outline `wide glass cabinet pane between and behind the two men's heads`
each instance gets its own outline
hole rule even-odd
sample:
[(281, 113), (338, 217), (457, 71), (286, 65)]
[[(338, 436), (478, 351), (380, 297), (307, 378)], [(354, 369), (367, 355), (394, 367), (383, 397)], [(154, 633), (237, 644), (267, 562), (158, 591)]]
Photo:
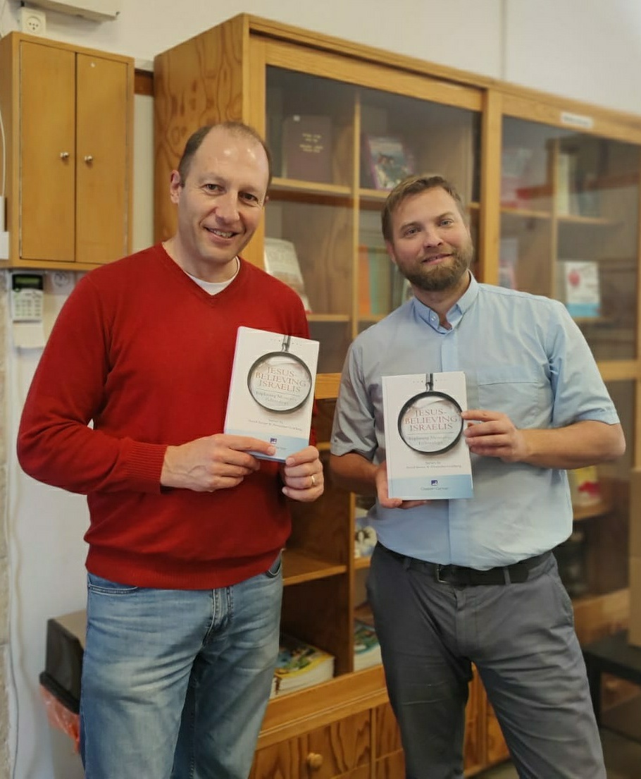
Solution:
[(450, 179), (477, 236), (480, 111), (274, 65), (265, 95), (265, 266), (303, 298), (319, 372), (340, 372), (359, 331), (408, 295), (380, 229), (395, 184), (412, 173)]

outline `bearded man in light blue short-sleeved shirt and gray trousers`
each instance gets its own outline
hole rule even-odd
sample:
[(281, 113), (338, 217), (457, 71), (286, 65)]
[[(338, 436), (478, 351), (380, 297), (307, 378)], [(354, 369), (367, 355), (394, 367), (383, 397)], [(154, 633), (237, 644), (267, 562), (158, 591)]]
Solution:
[[(368, 593), (408, 777), (463, 777), (474, 662), (521, 777), (605, 779), (550, 550), (572, 530), (566, 469), (625, 450), (615, 407), (563, 305), (471, 276), (461, 199), (443, 178), (401, 182), (383, 234), (415, 297), (352, 344), (331, 471), (377, 496)], [(474, 497), (391, 499), (381, 379), (447, 371), (466, 377)]]

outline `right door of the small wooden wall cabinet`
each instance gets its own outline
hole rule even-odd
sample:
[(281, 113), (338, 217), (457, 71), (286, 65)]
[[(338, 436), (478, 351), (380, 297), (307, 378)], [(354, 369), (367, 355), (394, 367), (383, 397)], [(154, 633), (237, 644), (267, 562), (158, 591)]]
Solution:
[(128, 68), (77, 55), (75, 261), (109, 263), (128, 250)]

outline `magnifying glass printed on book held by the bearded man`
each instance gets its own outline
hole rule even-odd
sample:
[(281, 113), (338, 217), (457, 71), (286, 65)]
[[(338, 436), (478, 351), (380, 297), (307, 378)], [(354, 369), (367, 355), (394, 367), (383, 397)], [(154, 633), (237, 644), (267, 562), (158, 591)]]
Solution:
[(461, 406), (451, 395), (433, 389), (434, 377), (426, 374), (426, 389), (411, 397), (398, 414), (398, 434), (410, 449), (422, 454), (443, 454), (463, 432)]

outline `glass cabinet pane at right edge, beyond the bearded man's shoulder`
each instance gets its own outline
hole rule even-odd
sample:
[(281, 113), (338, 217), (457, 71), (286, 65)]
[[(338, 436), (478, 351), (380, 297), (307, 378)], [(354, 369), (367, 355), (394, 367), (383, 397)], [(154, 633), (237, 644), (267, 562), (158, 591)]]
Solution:
[(636, 357), (639, 147), (503, 119), (499, 284), (562, 301), (597, 360)]

